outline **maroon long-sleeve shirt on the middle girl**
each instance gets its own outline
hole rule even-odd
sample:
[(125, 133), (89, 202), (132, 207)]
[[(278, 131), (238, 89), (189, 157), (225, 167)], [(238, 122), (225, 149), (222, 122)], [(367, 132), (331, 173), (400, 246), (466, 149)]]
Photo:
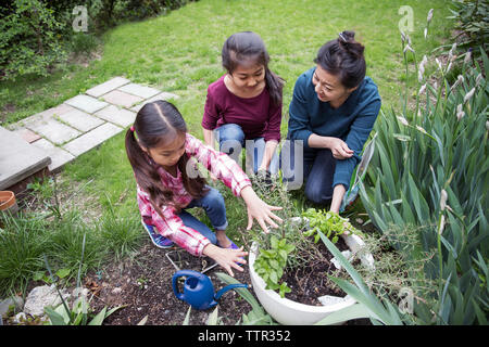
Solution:
[(214, 130), (237, 124), (247, 140), (264, 138), (280, 142), (281, 103), (274, 105), (266, 88), (253, 98), (239, 98), (224, 85), (224, 76), (208, 88), (202, 127)]

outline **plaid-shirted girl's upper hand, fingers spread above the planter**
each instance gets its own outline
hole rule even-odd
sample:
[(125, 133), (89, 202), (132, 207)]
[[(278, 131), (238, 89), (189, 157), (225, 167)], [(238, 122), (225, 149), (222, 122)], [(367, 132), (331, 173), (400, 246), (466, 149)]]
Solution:
[(247, 204), (247, 211), (248, 211), (247, 230), (250, 230), (251, 227), (253, 226), (253, 219), (256, 219), (258, 223), (265, 233), (268, 233), (268, 227), (266, 226), (266, 223), (268, 223), (273, 228), (278, 228), (277, 223), (273, 221), (273, 219), (281, 223), (281, 218), (276, 216), (273, 211), (280, 210), (281, 207), (269, 206), (268, 204), (266, 204), (256, 195), (251, 185), (244, 187), (242, 189), (241, 196), (244, 203)]

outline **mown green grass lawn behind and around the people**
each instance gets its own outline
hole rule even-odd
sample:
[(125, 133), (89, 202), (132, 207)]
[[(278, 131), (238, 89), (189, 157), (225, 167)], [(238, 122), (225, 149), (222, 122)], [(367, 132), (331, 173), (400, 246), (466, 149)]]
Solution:
[[(375, 0), (201, 0), (139, 23), (127, 23), (103, 37), (103, 53), (89, 66), (70, 65), (48, 78), (24, 78), (0, 83), (0, 120), (9, 124), (55, 106), (114, 76), (124, 76), (180, 97), (176, 106), (192, 134), (202, 139), (201, 119), (209, 83), (223, 74), (221, 49), (236, 31), (253, 30), (264, 39), (271, 68), (285, 80), (283, 137), (287, 132), (288, 105), (299, 75), (314, 65), (319, 47), (338, 33), (356, 31), (365, 44), (367, 75), (379, 87), (383, 107), (399, 107), (403, 79), (403, 55), (398, 10), (411, 5), (414, 33), (410, 33), (417, 56), (430, 52), (450, 36), (447, 1)], [(428, 39), (423, 37), (426, 15), (435, 9)], [(138, 214), (135, 180), (124, 149), (124, 134), (90, 151), (62, 174), (62, 189), (76, 181), (85, 196), (95, 196), (102, 208), (122, 217)], [(85, 184), (86, 183), (86, 184)], [(78, 195), (83, 196), (83, 194)], [(229, 234), (246, 228), (242, 203), (225, 192)], [(300, 197), (300, 195), (299, 195)], [(78, 198), (78, 197), (77, 197)], [(84, 204), (83, 198), (79, 204)], [(298, 204), (302, 204), (298, 200)], [(236, 235), (236, 234), (235, 234)], [(238, 235), (236, 235), (238, 236)], [(237, 237), (239, 240), (239, 237)]]

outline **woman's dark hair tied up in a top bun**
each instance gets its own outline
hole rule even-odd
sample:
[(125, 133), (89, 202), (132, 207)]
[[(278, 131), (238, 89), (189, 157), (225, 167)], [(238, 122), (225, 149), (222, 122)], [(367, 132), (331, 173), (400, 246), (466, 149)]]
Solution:
[(337, 39), (323, 44), (314, 60), (329, 74), (339, 76), (346, 88), (354, 88), (365, 78), (365, 47), (354, 37), (354, 31), (340, 33)]

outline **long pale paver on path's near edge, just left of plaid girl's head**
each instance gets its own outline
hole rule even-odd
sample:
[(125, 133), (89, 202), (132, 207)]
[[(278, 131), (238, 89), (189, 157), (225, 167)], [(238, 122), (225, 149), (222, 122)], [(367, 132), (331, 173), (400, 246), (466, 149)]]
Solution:
[(62, 147), (68, 151), (71, 154), (78, 156), (95, 146), (101, 144), (105, 140), (112, 138), (116, 133), (123, 131), (124, 129), (113, 124), (105, 123), (93, 130), (80, 136), (79, 138), (64, 144)]

